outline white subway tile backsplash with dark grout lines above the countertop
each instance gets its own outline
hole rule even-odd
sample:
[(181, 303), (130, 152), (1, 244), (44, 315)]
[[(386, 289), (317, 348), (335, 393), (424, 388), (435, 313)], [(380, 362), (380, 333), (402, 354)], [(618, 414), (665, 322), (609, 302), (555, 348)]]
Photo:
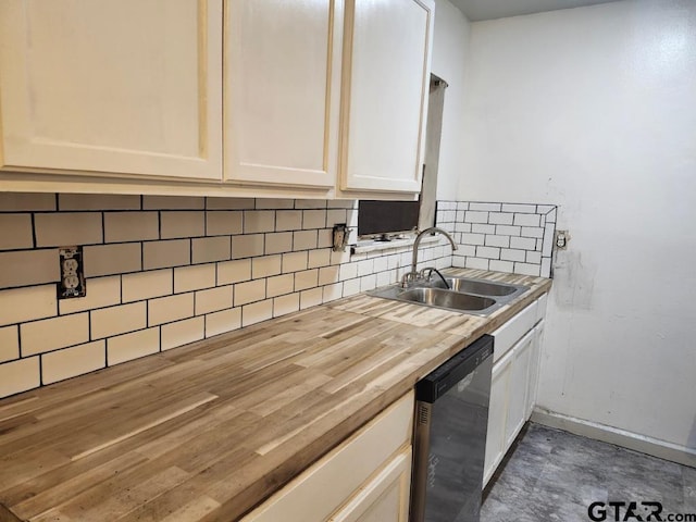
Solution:
[[(46, 382), (390, 284), (410, 270), (410, 247), (356, 256), (332, 250), (334, 224), (346, 223), (352, 227), (349, 238), (356, 238), (355, 200), (79, 196), (71, 202), (71, 197), (61, 195), (63, 210), (54, 212), (55, 195), (16, 196), (10, 201), (0, 195), (0, 225), (12, 229), (0, 240), (0, 250), (37, 256), (40, 249), (34, 245), (34, 235), (39, 247), (46, 243), (52, 234), (50, 220), (75, 228), (71, 243), (85, 245), (87, 297), (61, 301), (61, 315), (55, 285), (37, 285), (48, 282), (45, 277), (49, 275), (57, 277), (54, 248), (46, 251), (50, 262), (20, 282), (33, 286), (14, 293), (7, 284), (3, 288), (0, 279), (0, 326), (4, 326), (0, 327), (0, 371), (9, 361), (38, 362), (41, 358)], [(422, 245), (420, 266), (485, 264), (495, 270), (512, 264), (475, 258), (476, 246), (488, 256), (509, 246), (509, 234), (495, 234), (498, 225), (511, 226), (500, 203), (470, 207), (469, 202), (445, 201), (438, 207), (440, 226), (456, 233), (458, 239), (470, 235), (474, 244), (462, 245), (457, 253), (464, 256), (453, 258), (444, 240)], [(65, 212), (69, 208), (79, 212)], [(32, 214), (23, 212), (38, 212), (34, 228)], [(475, 223), (467, 222), (467, 215)], [(489, 237), (484, 239), (486, 234)], [(7, 258), (0, 257), (0, 265), (8, 265)], [(1, 307), (10, 302), (11, 307)], [(32, 333), (45, 323), (59, 326), (58, 322), (78, 319), (89, 321), (91, 337), (85, 337), (84, 324), (57, 328), (59, 334), (47, 341), (50, 346), (41, 345), (40, 336)], [(17, 323), (26, 333), (27, 350), (39, 356), (21, 352)], [(65, 340), (66, 331), (76, 337)], [(29, 357), (21, 359), (24, 356)], [(38, 365), (32, 370), (32, 378), (37, 380), (32, 387), (39, 385), (39, 371)], [(8, 394), (18, 387), (11, 386)]]

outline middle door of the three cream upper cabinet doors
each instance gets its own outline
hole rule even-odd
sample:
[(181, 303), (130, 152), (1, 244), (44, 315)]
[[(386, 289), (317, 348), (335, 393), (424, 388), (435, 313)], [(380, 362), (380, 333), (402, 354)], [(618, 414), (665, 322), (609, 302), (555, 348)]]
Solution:
[(225, 179), (336, 184), (343, 2), (225, 3)]

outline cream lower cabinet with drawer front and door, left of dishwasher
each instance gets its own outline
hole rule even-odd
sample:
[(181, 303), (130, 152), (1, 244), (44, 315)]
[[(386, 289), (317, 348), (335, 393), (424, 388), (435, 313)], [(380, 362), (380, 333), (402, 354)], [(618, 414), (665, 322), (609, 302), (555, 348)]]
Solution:
[(413, 393), (409, 393), (243, 522), (406, 522), (413, 408)]

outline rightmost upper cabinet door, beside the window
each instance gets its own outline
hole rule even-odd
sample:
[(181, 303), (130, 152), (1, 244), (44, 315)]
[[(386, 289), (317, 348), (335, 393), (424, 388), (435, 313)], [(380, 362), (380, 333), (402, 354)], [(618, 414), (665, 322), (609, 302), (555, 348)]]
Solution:
[(347, 0), (340, 188), (419, 192), (432, 0)]

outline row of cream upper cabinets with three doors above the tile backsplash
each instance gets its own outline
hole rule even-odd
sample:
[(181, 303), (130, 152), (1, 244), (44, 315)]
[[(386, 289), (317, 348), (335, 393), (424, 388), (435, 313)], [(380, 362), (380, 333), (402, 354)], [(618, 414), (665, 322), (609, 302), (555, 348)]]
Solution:
[(0, 0), (2, 188), (414, 198), (433, 10)]

